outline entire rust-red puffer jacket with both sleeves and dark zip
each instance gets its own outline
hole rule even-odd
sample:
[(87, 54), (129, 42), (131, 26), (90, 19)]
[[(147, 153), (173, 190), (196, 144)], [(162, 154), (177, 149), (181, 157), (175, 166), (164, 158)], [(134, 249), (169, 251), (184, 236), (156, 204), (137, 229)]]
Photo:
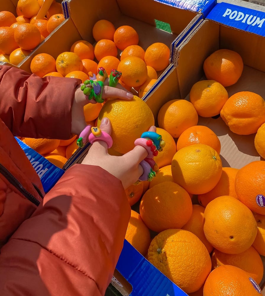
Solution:
[(79, 83), (0, 65), (0, 295), (104, 295), (114, 272), (130, 218), (121, 181), (76, 164), (42, 200), (13, 136), (69, 139)]

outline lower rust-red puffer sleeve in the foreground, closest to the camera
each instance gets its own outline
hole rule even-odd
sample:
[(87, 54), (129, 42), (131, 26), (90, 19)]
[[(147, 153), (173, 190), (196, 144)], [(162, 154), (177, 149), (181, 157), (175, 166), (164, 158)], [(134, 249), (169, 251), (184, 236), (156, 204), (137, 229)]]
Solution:
[(72, 166), (1, 249), (0, 295), (104, 295), (129, 218), (120, 180)]

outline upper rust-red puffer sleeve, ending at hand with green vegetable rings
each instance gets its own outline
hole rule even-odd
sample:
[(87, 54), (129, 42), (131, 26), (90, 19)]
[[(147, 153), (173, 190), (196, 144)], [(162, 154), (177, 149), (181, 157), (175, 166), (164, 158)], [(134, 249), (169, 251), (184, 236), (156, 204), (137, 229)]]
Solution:
[(71, 106), (80, 79), (40, 78), (0, 65), (0, 118), (15, 136), (71, 137)]

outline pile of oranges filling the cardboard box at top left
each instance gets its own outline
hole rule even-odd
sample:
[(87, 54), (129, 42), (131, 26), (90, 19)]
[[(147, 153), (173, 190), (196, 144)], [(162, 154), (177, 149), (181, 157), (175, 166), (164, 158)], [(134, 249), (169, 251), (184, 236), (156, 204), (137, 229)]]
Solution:
[(19, 0), (17, 16), (0, 12), (0, 61), (17, 66), (63, 21), (62, 5), (55, 0), (46, 17), (36, 16), (43, 0)]

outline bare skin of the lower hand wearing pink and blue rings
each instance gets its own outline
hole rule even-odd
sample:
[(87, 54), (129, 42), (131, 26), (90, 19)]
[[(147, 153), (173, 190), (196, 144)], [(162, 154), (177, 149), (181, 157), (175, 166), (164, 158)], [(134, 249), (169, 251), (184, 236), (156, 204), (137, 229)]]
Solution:
[[(101, 131), (111, 134), (111, 123), (108, 118), (103, 118), (100, 125)], [(151, 126), (149, 131), (156, 132), (156, 127)], [(140, 145), (122, 156), (113, 156), (108, 154), (107, 144), (104, 141), (95, 141), (88, 154), (85, 156), (82, 164), (97, 165), (111, 173), (122, 181), (126, 189), (134, 184), (143, 174), (143, 168), (140, 162), (146, 158), (148, 152)]]

